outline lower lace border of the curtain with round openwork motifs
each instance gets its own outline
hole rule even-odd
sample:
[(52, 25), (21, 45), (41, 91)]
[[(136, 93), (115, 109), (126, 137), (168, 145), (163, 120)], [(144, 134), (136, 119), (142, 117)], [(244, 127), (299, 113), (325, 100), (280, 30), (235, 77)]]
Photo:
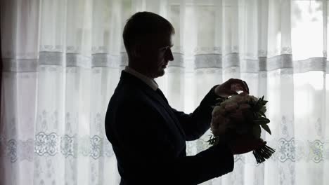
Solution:
[[(34, 139), (22, 141), (20, 139), (6, 139), (0, 137), (1, 156), (8, 158), (11, 163), (21, 160), (32, 161), (34, 156), (56, 156), (63, 155), (65, 158), (77, 156), (91, 157), (112, 157), (113, 151), (110, 142), (99, 135), (77, 137), (76, 135), (58, 135), (56, 132), (46, 134), (39, 132)], [(202, 145), (205, 145), (202, 144)], [(272, 161), (280, 163), (307, 161), (321, 163), (329, 160), (329, 141), (319, 139), (301, 141), (292, 138), (278, 138), (269, 141), (269, 145), (276, 148)], [(207, 146), (205, 146), (207, 147)], [(203, 149), (202, 149), (203, 150)], [(236, 156), (235, 161), (252, 163), (244, 156)]]

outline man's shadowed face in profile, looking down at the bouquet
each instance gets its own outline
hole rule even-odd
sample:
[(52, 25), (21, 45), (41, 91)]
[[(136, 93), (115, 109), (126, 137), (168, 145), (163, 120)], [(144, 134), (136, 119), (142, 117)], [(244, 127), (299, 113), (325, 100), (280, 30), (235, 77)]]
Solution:
[(172, 35), (157, 35), (150, 38), (143, 52), (143, 65), (150, 78), (164, 75), (168, 62), (174, 60), (172, 46)]

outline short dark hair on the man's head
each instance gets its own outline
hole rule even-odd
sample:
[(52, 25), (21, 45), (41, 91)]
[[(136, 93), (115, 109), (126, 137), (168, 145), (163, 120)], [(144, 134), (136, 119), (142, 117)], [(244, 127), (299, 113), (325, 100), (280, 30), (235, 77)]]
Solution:
[(123, 31), (124, 47), (131, 57), (131, 46), (155, 34), (174, 34), (172, 24), (160, 15), (151, 12), (138, 12), (127, 20)]

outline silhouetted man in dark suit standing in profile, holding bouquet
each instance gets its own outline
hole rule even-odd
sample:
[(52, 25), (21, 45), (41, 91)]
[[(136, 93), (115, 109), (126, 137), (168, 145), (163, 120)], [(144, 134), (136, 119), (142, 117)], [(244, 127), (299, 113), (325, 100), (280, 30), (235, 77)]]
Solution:
[[(198, 139), (209, 129), (215, 100), (236, 90), (249, 92), (244, 81), (230, 79), (209, 90), (191, 114), (170, 107), (154, 78), (163, 76), (168, 62), (174, 60), (172, 34), (174, 28), (167, 20), (148, 12), (136, 13), (124, 27), (129, 65), (122, 71), (105, 117), (120, 184), (199, 184), (232, 172), (233, 154), (262, 144), (245, 145), (245, 138), (224, 139), (186, 156), (186, 141)], [(221, 125), (224, 137), (231, 126)]]

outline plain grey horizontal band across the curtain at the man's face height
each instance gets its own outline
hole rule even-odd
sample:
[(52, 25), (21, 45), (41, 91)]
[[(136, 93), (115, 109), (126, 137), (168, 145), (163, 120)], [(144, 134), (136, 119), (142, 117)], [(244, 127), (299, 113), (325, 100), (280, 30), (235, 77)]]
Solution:
[[(39, 59), (4, 58), (3, 71), (35, 72), (40, 65), (57, 65), (65, 67), (110, 67), (119, 68), (128, 64), (126, 53), (109, 55), (106, 53), (93, 54), (91, 57), (78, 53), (40, 52)], [(190, 62), (192, 61), (192, 62)], [(284, 54), (275, 57), (259, 57), (257, 60), (243, 59), (239, 53), (228, 55), (202, 54), (186, 59), (181, 53), (174, 53), (174, 61), (169, 67), (192, 69), (240, 67), (244, 73), (258, 73), (259, 71), (273, 71), (276, 69), (292, 68), (294, 73), (307, 71), (329, 71), (329, 61), (325, 57), (311, 57), (307, 60), (292, 61), (292, 55)]]

